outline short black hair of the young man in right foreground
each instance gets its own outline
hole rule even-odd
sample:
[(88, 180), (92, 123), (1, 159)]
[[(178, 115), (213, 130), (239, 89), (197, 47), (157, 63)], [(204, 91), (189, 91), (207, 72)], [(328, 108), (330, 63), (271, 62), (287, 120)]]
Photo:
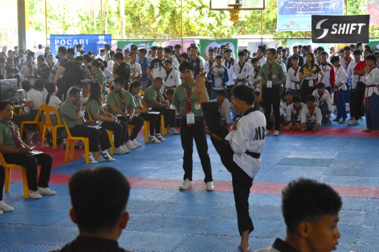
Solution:
[(282, 212), (287, 233), (293, 234), (302, 221), (317, 222), (341, 210), (341, 196), (330, 186), (300, 178), (282, 191)]

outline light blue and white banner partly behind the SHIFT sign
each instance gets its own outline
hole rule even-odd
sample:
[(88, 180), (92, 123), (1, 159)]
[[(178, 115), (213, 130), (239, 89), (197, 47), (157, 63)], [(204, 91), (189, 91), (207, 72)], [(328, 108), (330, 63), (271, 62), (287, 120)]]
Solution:
[(277, 31), (311, 31), (312, 15), (343, 15), (344, 0), (278, 0)]

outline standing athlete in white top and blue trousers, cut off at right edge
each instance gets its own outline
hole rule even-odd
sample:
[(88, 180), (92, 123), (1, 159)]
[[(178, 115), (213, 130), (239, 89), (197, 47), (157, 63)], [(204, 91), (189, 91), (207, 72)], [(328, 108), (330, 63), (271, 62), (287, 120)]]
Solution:
[(365, 116), (366, 126), (364, 132), (379, 133), (379, 69), (375, 66), (376, 55), (366, 57), (365, 67)]

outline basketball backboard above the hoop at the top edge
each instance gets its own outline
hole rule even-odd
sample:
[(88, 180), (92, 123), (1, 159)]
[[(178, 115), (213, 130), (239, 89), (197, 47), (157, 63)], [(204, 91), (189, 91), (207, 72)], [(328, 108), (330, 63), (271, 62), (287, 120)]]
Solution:
[(241, 10), (265, 9), (265, 0), (210, 0), (211, 10), (228, 10), (228, 4), (240, 4)]

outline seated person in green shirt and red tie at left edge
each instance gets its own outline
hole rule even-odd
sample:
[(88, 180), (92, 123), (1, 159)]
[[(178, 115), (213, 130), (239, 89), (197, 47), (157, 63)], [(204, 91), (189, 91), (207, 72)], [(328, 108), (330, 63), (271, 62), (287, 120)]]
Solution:
[[(29, 197), (41, 198), (41, 194), (51, 195), (49, 189), (50, 171), (53, 158), (46, 153), (32, 153), (34, 147), (25, 144), (19, 134), (18, 126), (11, 122), (13, 105), (9, 100), (0, 101), (0, 152), (5, 162), (26, 167)], [(40, 165), (39, 176), (37, 166)]]

